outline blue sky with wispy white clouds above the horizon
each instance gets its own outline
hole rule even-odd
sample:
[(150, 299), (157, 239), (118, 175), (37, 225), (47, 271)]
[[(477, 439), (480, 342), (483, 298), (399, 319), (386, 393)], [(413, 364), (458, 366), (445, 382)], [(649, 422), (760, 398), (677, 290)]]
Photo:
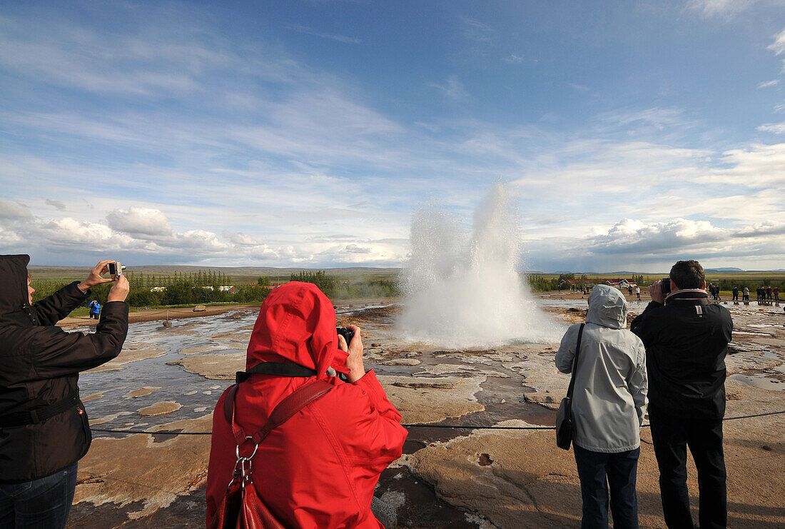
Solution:
[(400, 266), (502, 182), (524, 268), (785, 268), (783, 0), (0, 5), (0, 253)]

